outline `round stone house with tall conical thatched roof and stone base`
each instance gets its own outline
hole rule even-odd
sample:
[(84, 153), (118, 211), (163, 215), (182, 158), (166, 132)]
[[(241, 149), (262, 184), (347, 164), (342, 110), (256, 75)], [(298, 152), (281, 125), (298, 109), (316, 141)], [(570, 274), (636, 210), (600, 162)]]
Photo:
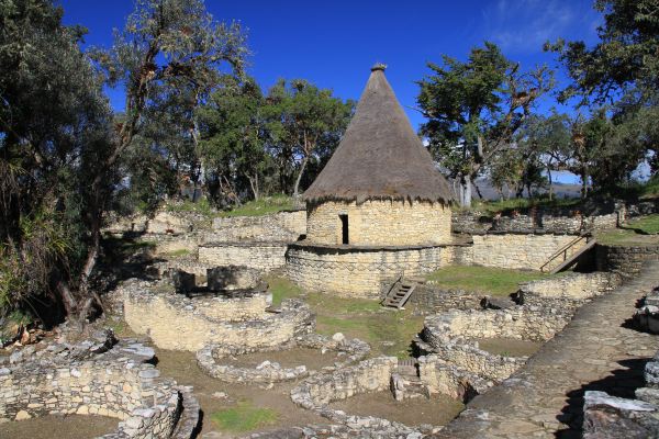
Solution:
[(304, 193), (306, 238), (289, 277), (312, 291), (378, 297), (380, 284), (453, 257), (451, 192), (375, 66), (332, 158)]

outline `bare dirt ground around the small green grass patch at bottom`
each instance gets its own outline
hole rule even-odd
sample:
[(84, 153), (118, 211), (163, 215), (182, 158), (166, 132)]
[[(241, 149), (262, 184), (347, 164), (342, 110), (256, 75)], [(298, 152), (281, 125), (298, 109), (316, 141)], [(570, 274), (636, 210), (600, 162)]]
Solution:
[[(179, 384), (194, 386), (194, 395), (199, 399), (203, 412), (201, 436), (219, 431), (210, 418), (211, 415), (214, 412), (235, 405), (237, 401), (249, 401), (256, 407), (275, 410), (278, 415), (277, 421), (267, 429), (306, 424), (327, 424), (327, 419), (293, 404), (289, 394), (291, 389), (297, 385), (295, 382), (276, 384), (271, 389), (266, 389), (265, 385), (226, 384), (204, 374), (197, 365), (192, 352), (157, 349), (156, 354), (158, 357), (157, 368), (163, 376), (174, 378)], [(217, 392), (225, 393), (227, 397), (213, 396)], [(235, 436), (239, 437), (244, 434), (236, 434)], [(232, 438), (234, 436), (223, 432), (222, 436), (212, 435), (212, 437)]]

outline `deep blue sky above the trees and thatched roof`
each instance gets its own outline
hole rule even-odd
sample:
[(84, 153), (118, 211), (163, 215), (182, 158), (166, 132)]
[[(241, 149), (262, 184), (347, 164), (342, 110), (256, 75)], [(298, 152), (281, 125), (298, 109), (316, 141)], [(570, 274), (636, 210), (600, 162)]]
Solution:
[[(358, 99), (377, 61), (416, 128), (423, 122), (415, 106), (415, 81), (428, 72), (427, 61), (446, 54), (465, 59), (483, 41), (499, 44), (523, 69), (547, 64), (546, 41), (558, 37), (596, 41), (601, 15), (591, 0), (494, 1), (277, 1), (206, 0), (216, 20), (239, 21), (247, 30), (249, 74), (264, 89), (278, 78), (303, 78), (344, 99)], [(112, 30), (123, 27), (132, 0), (62, 0), (65, 22), (89, 29), (86, 43), (110, 46)], [(565, 83), (565, 75), (558, 74)], [(123, 108), (121, 91), (109, 91), (112, 105)], [(547, 97), (541, 110), (556, 105)], [(568, 108), (561, 109), (569, 111)]]

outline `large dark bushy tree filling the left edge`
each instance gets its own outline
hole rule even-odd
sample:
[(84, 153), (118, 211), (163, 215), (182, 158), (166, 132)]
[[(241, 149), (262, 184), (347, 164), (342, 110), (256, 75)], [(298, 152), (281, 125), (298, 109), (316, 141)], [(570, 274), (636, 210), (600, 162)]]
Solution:
[[(76, 316), (93, 293), (79, 284), (111, 113), (101, 78), (48, 0), (0, 1), (0, 311), (48, 322)], [(71, 291), (74, 288), (74, 291)], [(0, 316), (1, 317), (1, 316)]]

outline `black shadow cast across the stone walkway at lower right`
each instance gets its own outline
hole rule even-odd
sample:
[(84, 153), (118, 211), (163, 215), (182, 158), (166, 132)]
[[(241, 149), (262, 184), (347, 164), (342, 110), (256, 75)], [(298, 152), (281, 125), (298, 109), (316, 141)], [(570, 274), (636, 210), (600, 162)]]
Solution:
[(634, 398), (636, 389), (645, 386), (644, 370), (651, 358), (622, 360), (617, 363), (621, 369), (614, 370), (608, 376), (583, 384), (581, 387), (567, 393), (567, 405), (556, 418), (570, 426), (558, 430), (556, 437), (560, 439), (581, 438), (583, 430), (583, 395), (587, 391), (606, 392), (611, 396)]

